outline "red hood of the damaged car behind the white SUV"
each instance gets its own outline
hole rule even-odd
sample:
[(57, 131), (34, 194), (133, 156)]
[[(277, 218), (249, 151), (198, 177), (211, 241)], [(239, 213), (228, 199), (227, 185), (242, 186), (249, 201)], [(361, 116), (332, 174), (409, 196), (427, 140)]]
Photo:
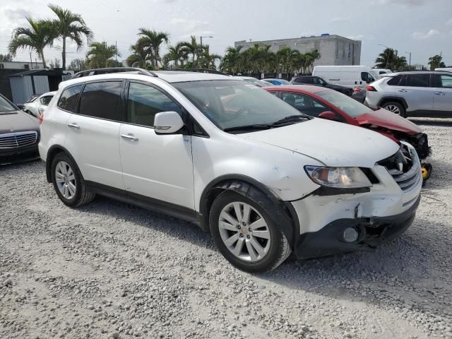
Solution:
[(356, 117), (356, 121), (360, 125), (372, 124), (383, 127), (384, 129), (391, 129), (392, 131), (400, 131), (408, 134), (421, 133), (422, 129), (416, 124), (413, 124), (408, 119), (400, 117), (400, 115), (393, 114), (386, 109), (379, 109)]

